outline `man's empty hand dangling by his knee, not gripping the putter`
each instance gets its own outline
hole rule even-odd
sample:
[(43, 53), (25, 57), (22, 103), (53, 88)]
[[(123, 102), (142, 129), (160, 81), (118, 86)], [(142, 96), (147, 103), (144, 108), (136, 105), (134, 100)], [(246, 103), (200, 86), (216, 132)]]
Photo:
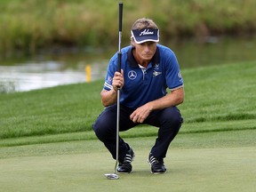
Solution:
[(145, 104), (140, 108), (137, 108), (135, 111), (133, 111), (132, 115), (130, 116), (130, 119), (132, 120), (133, 123), (142, 124), (151, 111), (152, 108), (148, 104)]

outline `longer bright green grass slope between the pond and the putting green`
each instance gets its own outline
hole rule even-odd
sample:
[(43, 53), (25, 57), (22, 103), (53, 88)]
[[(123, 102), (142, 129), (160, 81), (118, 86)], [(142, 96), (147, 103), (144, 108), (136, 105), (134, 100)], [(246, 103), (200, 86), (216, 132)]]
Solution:
[[(186, 96), (180, 105), (184, 117), (180, 133), (255, 130), (255, 72), (255, 62), (183, 69)], [(31, 144), (95, 139), (90, 131), (103, 109), (102, 84), (100, 80), (0, 94), (0, 146), (24, 145), (25, 140)], [(125, 137), (156, 134), (156, 130), (148, 130), (142, 126), (140, 132)]]

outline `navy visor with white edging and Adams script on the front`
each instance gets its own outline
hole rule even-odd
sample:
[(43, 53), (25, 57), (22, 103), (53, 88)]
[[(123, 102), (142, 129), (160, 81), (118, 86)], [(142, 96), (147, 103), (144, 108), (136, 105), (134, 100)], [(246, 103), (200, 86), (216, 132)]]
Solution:
[(131, 33), (136, 44), (148, 41), (159, 42), (159, 30), (157, 28), (134, 29)]

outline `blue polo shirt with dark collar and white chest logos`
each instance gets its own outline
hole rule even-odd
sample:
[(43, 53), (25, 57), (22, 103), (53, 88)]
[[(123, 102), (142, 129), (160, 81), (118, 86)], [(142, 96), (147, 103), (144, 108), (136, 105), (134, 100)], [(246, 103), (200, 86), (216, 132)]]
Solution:
[[(121, 89), (120, 103), (128, 108), (139, 108), (149, 101), (166, 95), (183, 86), (179, 63), (174, 52), (164, 45), (156, 45), (156, 53), (148, 67), (140, 68), (133, 57), (132, 46), (124, 47), (121, 68), (124, 70), (124, 86)], [(117, 52), (110, 59), (103, 89), (112, 89), (112, 79), (117, 70)]]

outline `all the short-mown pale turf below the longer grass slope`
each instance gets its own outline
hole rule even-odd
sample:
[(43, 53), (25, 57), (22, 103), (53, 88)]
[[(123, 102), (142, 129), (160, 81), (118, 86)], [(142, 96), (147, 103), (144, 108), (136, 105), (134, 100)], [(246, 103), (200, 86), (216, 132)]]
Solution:
[(155, 138), (126, 139), (135, 151), (133, 172), (119, 180), (104, 177), (115, 161), (99, 140), (0, 148), (0, 191), (255, 191), (253, 135), (254, 130), (180, 134), (163, 175), (152, 175), (147, 163)]

